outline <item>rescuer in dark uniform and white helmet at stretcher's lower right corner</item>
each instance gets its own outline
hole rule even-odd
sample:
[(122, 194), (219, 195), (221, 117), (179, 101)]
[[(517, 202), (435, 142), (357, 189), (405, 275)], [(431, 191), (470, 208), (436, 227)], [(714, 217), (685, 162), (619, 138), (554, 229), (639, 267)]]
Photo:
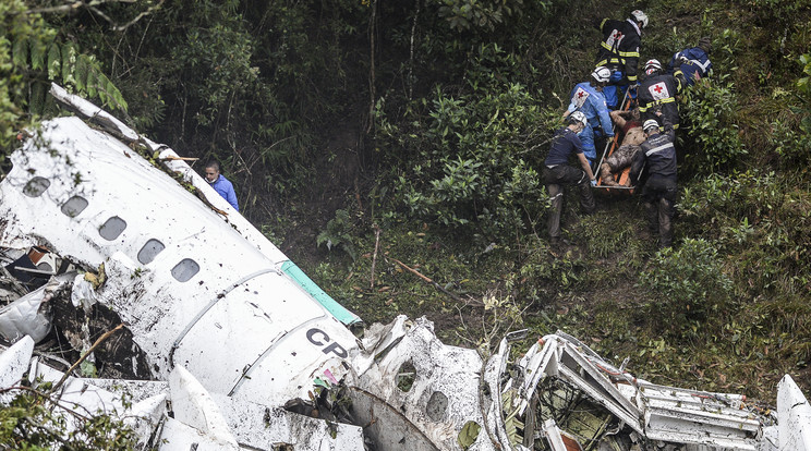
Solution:
[(633, 157), (631, 180), (642, 187), (642, 202), (647, 216), (647, 230), (658, 233), (659, 248), (673, 244), (673, 216), (676, 212), (676, 131), (661, 111), (665, 133), (659, 133), (659, 123), (649, 119), (642, 124), (645, 142)]

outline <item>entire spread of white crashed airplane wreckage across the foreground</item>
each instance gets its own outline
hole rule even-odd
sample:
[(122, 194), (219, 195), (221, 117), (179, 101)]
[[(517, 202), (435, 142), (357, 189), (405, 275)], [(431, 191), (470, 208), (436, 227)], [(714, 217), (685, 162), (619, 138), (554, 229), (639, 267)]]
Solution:
[[(57, 411), (160, 450), (811, 449), (789, 376), (763, 412), (562, 332), (511, 361), (525, 332), (482, 356), (424, 318), (363, 330), (171, 149), (51, 94), (77, 115), (43, 123), (0, 182), (0, 404), (50, 387)], [(98, 377), (36, 352), (55, 329)]]

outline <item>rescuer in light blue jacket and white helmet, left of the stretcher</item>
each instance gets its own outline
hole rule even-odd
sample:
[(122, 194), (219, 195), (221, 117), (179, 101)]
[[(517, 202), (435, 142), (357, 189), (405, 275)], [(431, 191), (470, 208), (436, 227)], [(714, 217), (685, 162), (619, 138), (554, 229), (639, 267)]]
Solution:
[(595, 142), (614, 136), (612, 118), (608, 115), (608, 107), (603, 96), (603, 88), (608, 84), (609, 76), (608, 69), (597, 68), (592, 72), (589, 82), (574, 85), (569, 108), (564, 113), (565, 118), (574, 111), (582, 111), (585, 114), (589, 124), (578, 136), (590, 164), (594, 164), (597, 159)]

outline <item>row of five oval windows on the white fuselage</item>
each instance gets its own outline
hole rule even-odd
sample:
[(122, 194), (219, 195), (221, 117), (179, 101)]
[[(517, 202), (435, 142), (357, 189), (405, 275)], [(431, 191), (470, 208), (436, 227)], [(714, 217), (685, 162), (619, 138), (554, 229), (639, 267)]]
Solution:
[[(39, 197), (50, 186), (50, 181), (43, 176), (35, 176), (25, 184), (23, 187), (23, 194), (28, 197)], [(69, 198), (60, 210), (69, 218), (75, 218), (82, 211), (87, 208), (88, 202), (82, 196), (72, 196)], [(116, 241), (121, 233), (126, 229), (126, 221), (113, 216), (105, 221), (104, 224), (98, 229), (99, 235), (107, 241)], [(158, 240), (149, 239), (141, 251), (138, 251), (137, 259), (143, 265), (152, 263), (155, 257), (160, 254), (166, 246)], [(197, 272), (199, 272), (199, 265), (191, 258), (184, 258), (180, 260), (171, 270), (172, 277), (179, 282), (187, 282)]]

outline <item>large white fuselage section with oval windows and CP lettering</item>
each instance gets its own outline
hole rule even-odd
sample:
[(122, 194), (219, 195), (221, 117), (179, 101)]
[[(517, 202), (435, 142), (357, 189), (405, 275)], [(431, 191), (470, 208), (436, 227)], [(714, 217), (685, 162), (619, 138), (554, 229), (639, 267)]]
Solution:
[[(39, 133), (0, 184), (0, 245), (45, 245), (86, 268), (105, 263), (116, 283), (98, 295), (157, 377), (182, 363), (213, 392), (280, 405), (306, 400), (314, 378), (346, 373), (354, 336), (175, 180), (78, 118), (48, 121)], [(47, 188), (32, 196), (43, 181)], [(74, 196), (87, 206), (71, 217), (62, 207)], [(116, 222), (125, 223), (120, 233)], [(165, 248), (140, 261), (155, 241)]]

